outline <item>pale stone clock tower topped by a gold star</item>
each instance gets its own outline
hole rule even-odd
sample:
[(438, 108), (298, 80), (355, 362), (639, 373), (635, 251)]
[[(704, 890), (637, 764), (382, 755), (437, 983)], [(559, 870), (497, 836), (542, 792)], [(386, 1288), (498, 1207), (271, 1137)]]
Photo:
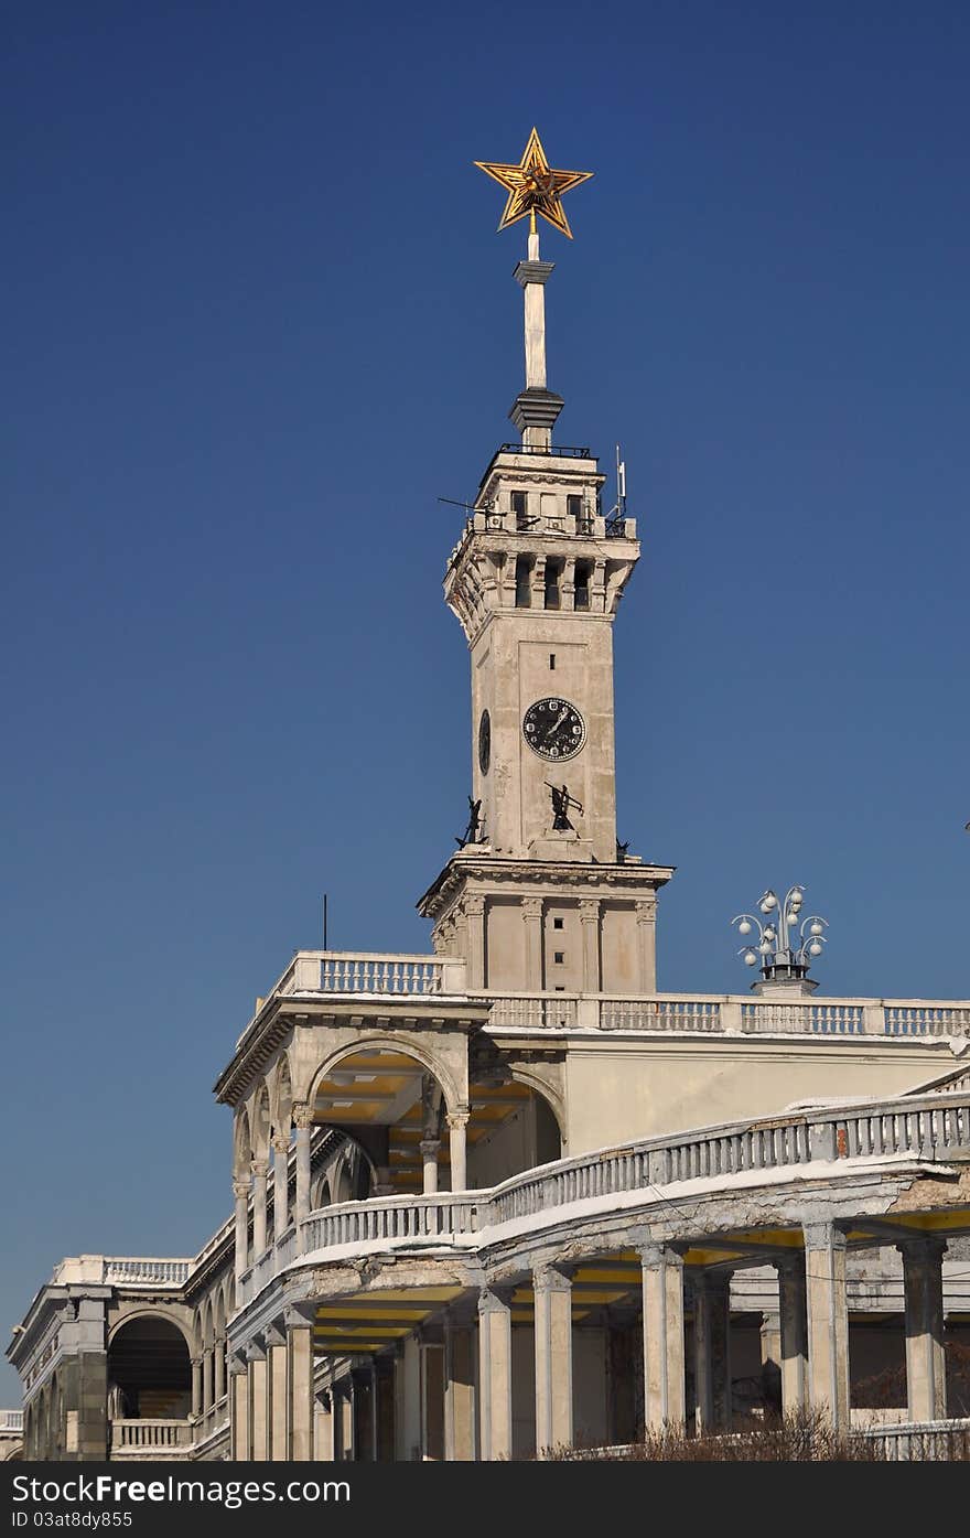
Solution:
[[(452, 551), (444, 595), (472, 664), (467, 841), (418, 903), (435, 949), (469, 984), (510, 992), (656, 989), (656, 891), (672, 875), (616, 843), (613, 620), (639, 560), (623, 500), (604, 517), (596, 458), (553, 446), (563, 398), (546, 383), (546, 283), (536, 212), (570, 235), (535, 129), (518, 166), (480, 163), (509, 191), (500, 229), (529, 215), (521, 443), (489, 461)], [(555, 1003), (555, 1000), (552, 1001)]]

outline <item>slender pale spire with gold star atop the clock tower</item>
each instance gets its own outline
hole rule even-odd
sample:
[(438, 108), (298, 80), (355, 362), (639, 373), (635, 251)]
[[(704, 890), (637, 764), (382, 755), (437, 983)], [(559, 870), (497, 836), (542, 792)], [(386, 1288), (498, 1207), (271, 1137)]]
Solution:
[(529, 215), (529, 255), (518, 263), (513, 274), (523, 288), (526, 311), (526, 388), (515, 397), (509, 417), (521, 432), (524, 448), (549, 451), (552, 429), (563, 411), (563, 397), (546, 384), (546, 283), (553, 263), (540, 260), (535, 215), (541, 214), (572, 240), (561, 198), (570, 188), (589, 181), (592, 171), (553, 171), (535, 128), (517, 166), (492, 160), (477, 160), (475, 165), (509, 194), (500, 229)]

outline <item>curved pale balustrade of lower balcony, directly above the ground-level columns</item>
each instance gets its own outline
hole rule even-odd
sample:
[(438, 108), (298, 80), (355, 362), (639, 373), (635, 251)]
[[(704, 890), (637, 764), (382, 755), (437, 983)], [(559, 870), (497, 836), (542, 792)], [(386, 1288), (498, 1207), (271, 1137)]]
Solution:
[[(658, 1187), (686, 1181), (718, 1186), (726, 1178), (758, 1172), (804, 1170), (821, 1163), (827, 1178), (839, 1161), (948, 1163), (970, 1161), (970, 1095), (919, 1095), (887, 1101), (825, 1106), (764, 1121), (699, 1127), (675, 1137), (644, 1138), (576, 1158), (543, 1164), (487, 1190), (443, 1192), (434, 1197), (375, 1197), (312, 1212), (298, 1235), (303, 1257), (341, 1246), (380, 1244), (467, 1249), (503, 1240), (506, 1224), (543, 1217), (561, 1221), (561, 1209), (641, 1193), (644, 1204)], [(821, 1173), (821, 1172), (819, 1172)], [(849, 1173), (849, 1170), (845, 1170)], [(858, 1163), (852, 1173), (858, 1173)], [(620, 1204), (620, 1203), (618, 1203)], [(629, 1206), (629, 1201), (623, 1201)], [(507, 1235), (512, 1237), (512, 1235)], [(247, 1304), (294, 1261), (291, 1235), (280, 1250), (266, 1250), (240, 1278)]]

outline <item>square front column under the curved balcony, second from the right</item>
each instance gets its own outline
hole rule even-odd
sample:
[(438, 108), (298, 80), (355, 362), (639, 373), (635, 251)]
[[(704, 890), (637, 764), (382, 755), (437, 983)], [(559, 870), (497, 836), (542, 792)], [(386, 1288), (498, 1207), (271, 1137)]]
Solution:
[(807, 1223), (804, 1235), (809, 1404), (836, 1430), (849, 1430), (845, 1235), (835, 1223)]

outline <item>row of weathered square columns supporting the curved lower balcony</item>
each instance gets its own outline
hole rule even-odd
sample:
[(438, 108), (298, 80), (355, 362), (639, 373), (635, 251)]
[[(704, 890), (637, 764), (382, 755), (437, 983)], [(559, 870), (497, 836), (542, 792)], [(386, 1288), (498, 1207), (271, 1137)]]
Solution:
[[(729, 1267), (684, 1264), (687, 1241), (635, 1246), (643, 1293), (643, 1412), (647, 1430), (730, 1427)], [(945, 1241), (905, 1238), (905, 1361), (909, 1418), (945, 1416), (942, 1255)], [(845, 1232), (806, 1223), (778, 1270), (778, 1352), (782, 1412), (821, 1410), (849, 1430), (849, 1307)], [(764, 1257), (769, 1258), (769, 1253)], [(575, 1264), (575, 1263), (573, 1263)], [(684, 1329), (686, 1280), (693, 1330)], [(532, 1266), (535, 1447), (573, 1444), (573, 1286), (555, 1258)], [(490, 1283), (449, 1310), (441, 1326), (407, 1337), (394, 1357), (354, 1366), (314, 1392), (311, 1313), (289, 1310), (263, 1330), (232, 1372), (234, 1456), (395, 1458), (449, 1461), (513, 1455), (512, 1283)], [(312, 1312), (312, 1310), (311, 1310)], [(692, 1343), (692, 1361), (686, 1341)], [(693, 1401), (687, 1403), (687, 1386)], [(429, 1453), (429, 1447), (432, 1449)]]

